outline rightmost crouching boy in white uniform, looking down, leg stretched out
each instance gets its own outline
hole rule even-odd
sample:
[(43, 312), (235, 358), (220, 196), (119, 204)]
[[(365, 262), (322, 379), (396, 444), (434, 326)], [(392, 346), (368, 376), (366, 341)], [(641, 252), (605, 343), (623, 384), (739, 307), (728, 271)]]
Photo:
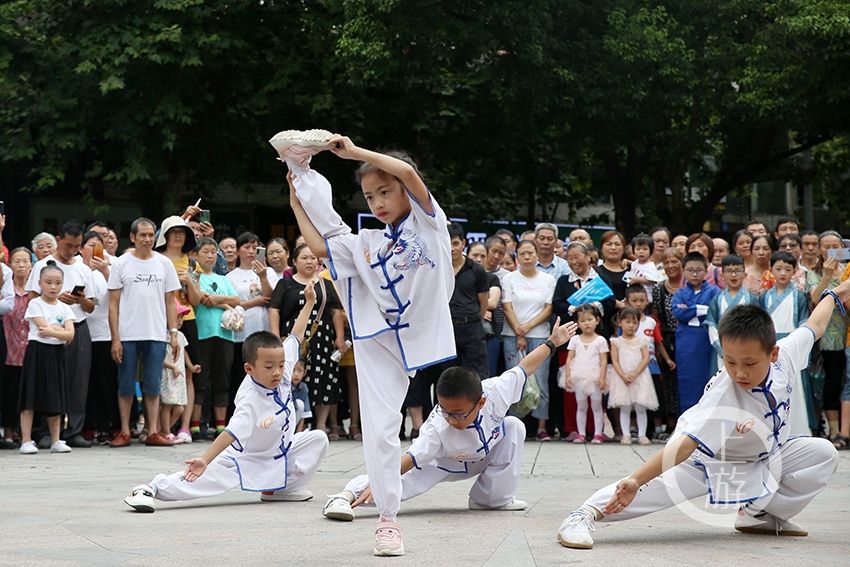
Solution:
[[(735, 529), (808, 535), (791, 521), (835, 473), (838, 453), (826, 439), (790, 437), (787, 425), (796, 375), (809, 365), (836, 304), (850, 299), (850, 280), (827, 290), (806, 325), (776, 342), (761, 307), (732, 308), (720, 322), (726, 368), (679, 418), (666, 447), (631, 476), (591, 496), (558, 530), (565, 547), (593, 547), (590, 531), (708, 495), (711, 504), (741, 504)], [(699, 449), (698, 452), (696, 450)]]

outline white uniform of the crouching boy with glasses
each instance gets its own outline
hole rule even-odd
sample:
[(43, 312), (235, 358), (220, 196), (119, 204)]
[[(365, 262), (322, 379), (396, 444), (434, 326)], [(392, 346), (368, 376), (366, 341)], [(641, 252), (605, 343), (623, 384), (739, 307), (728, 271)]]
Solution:
[[(522, 397), (526, 379), (516, 366), (481, 382), (486, 402), (466, 429), (452, 427), (435, 408), (407, 450), (414, 468), (401, 477), (401, 499), (423, 494), (440, 482), (478, 477), (469, 491), (472, 500), (493, 508), (511, 502), (522, 469), (525, 425), (506, 414)], [(357, 497), (367, 486), (369, 477), (361, 475), (345, 489)]]

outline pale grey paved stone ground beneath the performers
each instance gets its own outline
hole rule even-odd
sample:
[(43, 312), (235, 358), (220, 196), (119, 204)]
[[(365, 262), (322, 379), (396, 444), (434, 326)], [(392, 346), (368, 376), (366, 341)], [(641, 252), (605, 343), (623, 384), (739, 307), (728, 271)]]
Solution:
[[(299, 503), (260, 503), (233, 491), (132, 512), (122, 498), (154, 474), (182, 468), (206, 444), (174, 448), (75, 449), (67, 455), (0, 452), (0, 565), (850, 565), (850, 452), (798, 521), (809, 537), (739, 534), (676, 509), (600, 524), (596, 547), (555, 541), (563, 517), (593, 490), (626, 475), (659, 446), (525, 445), (524, 512), (471, 512), (471, 481), (438, 486), (402, 506), (407, 556), (371, 555), (374, 508), (352, 523), (322, 518), (324, 495), (364, 471), (359, 443), (331, 444)], [(697, 503), (699, 505), (699, 503)]]

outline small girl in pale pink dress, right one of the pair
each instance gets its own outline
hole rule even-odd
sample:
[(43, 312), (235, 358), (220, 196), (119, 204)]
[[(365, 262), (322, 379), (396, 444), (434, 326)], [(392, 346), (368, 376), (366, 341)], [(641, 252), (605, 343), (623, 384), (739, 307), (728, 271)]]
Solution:
[(638, 335), (641, 313), (626, 307), (617, 315), (622, 335), (611, 338), (611, 365), (608, 371), (608, 407), (620, 408), (620, 443), (631, 445), (629, 425), (632, 407), (637, 415), (638, 442), (649, 445), (646, 437), (646, 410), (658, 409), (658, 396), (649, 374), (649, 337)]

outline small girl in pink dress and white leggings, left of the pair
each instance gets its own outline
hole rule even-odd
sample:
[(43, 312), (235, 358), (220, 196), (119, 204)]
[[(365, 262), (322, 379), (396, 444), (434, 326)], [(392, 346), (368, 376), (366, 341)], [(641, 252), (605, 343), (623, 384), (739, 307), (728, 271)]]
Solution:
[(578, 437), (573, 443), (586, 441), (587, 398), (593, 411), (593, 440), (591, 443), (602, 443), (602, 392), (605, 391), (605, 374), (608, 369), (608, 341), (598, 335), (596, 330), (602, 322), (602, 317), (596, 306), (586, 303), (575, 311), (581, 335), (575, 335), (567, 346), (567, 363), (564, 365), (564, 380), (561, 385), (567, 391), (575, 392), (576, 420)]

